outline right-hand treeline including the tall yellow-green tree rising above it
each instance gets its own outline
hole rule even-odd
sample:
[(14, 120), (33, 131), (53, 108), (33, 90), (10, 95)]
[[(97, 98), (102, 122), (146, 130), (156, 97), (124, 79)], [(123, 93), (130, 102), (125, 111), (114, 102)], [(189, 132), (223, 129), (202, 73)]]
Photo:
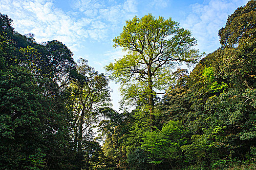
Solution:
[(122, 85), (121, 103), (136, 108), (103, 128), (103, 150), (119, 169), (256, 169), (256, 1), (236, 9), (218, 34), (221, 47), (191, 73), (172, 72), (200, 54), (171, 19), (134, 17), (114, 39), (129, 53), (107, 70)]

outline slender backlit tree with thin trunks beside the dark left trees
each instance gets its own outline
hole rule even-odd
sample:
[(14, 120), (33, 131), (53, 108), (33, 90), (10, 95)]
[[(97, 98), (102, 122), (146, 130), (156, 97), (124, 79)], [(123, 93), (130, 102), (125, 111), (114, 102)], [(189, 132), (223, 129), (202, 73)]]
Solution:
[[(70, 85), (73, 101), (74, 149), (78, 155), (78, 167), (81, 169), (85, 154), (86, 137), (93, 133), (92, 128), (100, 121), (100, 111), (109, 106), (110, 94), (108, 80), (104, 74), (99, 74), (87, 64), (87, 60), (80, 59), (77, 66), (77, 79)], [(93, 135), (91, 136), (93, 137)], [(84, 140), (85, 139), (85, 140)], [(91, 140), (91, 141), (90, 141)], [(93, 138), (89, 139), (90, 142)], [(89, 142), (87, 141), (87, 142)], [(86, 162), (85, 169), (89, 169)]]

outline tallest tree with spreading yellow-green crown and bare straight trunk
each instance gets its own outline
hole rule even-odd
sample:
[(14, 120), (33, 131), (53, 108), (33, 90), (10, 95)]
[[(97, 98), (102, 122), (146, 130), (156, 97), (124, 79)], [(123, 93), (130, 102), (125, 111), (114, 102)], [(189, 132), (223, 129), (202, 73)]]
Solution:
[(121, 83), (122, 95), (130, 96), (130, 101), (134, 98), (130, 93), (134, 88), (145, 94), (152, 127), (155, 91), (165, 87), (171, 69), (178, 63), (197, 61), (198, 50), (192, 49), (196, 40), (171, 18), (157, 19), (149, 14), (126, 21), (123, 32), (113, 41), (114, 47), (122, 47), (128, 54), (110, 63), (106, 70), (111, 79)]

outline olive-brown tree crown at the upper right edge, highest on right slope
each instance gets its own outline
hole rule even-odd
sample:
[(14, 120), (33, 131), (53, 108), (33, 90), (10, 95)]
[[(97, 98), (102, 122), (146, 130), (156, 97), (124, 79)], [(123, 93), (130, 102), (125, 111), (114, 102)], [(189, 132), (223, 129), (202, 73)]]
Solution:
[(232, 81), (238, 79), (244, 88), (249, 89), (256, 85), (255, 6), (255, 0), (250, 0), (237, 8), (219, 31), (220, 43), (224, 47), (221, 69), (230, 70)]

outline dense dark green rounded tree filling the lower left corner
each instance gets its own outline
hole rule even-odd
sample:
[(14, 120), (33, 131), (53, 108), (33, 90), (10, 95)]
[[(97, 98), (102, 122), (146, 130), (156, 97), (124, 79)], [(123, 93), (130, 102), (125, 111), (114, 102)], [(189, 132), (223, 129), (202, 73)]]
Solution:
[(0, 99), (1, 169), (42, 167), (42, 95), (31, 74), (15, 67), (0, 70)]

